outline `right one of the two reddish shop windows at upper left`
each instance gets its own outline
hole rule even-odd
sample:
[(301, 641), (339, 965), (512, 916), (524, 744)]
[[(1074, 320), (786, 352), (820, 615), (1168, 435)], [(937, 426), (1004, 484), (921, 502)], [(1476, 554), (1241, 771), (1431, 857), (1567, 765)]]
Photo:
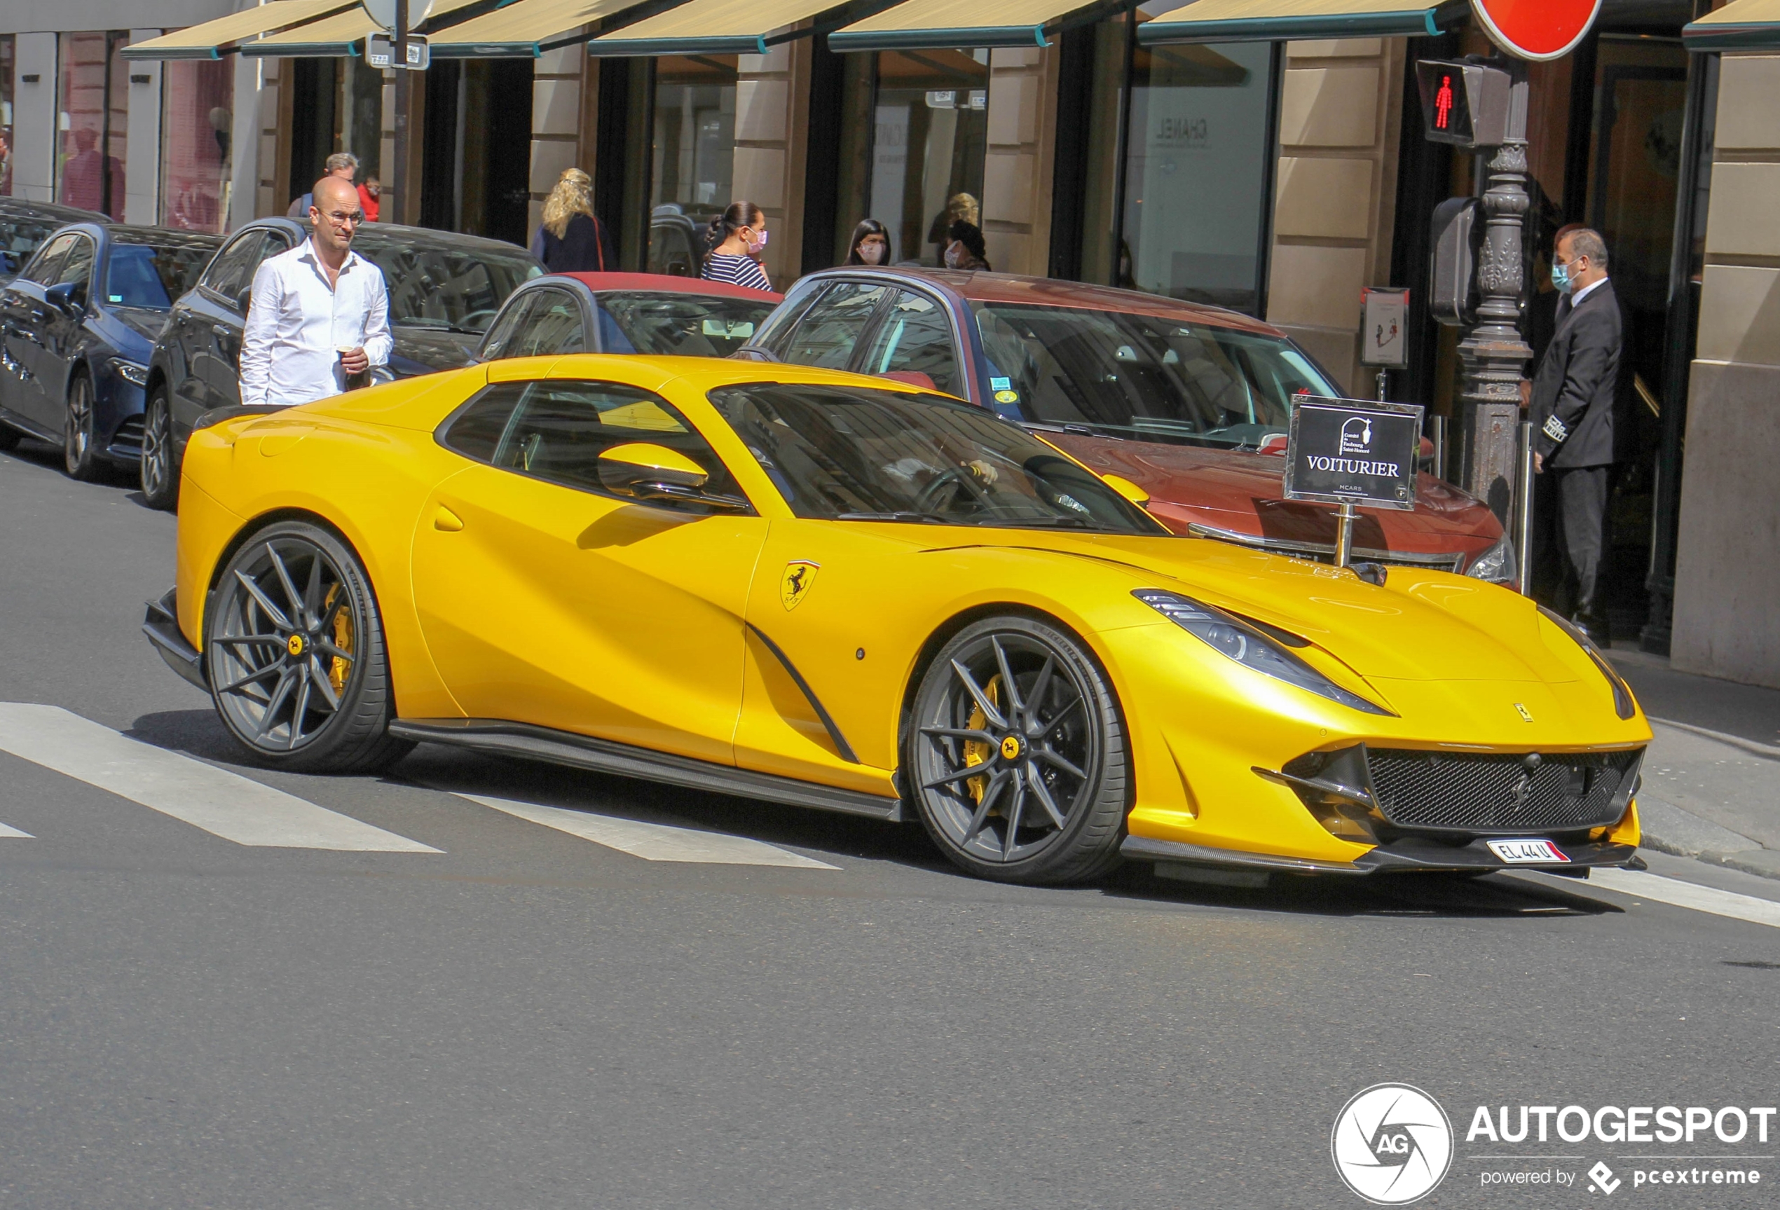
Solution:
[(162, 226), (221, 233), (230, 208), (235, 68), (219, 59), (162, 64)]

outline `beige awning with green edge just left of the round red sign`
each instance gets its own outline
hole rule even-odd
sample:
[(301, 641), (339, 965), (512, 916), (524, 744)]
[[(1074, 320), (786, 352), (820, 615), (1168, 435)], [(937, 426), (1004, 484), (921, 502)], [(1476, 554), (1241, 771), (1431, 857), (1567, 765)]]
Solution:
[(1198, 0), (1137, 27), (1137, 41), (1280, 43), (1296, 37), (1435, 36), (1467, 0)]

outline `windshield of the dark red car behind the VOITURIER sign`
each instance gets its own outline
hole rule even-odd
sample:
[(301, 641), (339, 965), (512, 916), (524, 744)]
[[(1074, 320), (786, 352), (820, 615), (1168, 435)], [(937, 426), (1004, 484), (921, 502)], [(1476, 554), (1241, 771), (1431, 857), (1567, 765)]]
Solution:
[(993, 407), (1031, 424), (1253, 448), (1287, 431), (1294, 395), (1346, 393), (1278, 336), (1129, 311), (970, 306)]

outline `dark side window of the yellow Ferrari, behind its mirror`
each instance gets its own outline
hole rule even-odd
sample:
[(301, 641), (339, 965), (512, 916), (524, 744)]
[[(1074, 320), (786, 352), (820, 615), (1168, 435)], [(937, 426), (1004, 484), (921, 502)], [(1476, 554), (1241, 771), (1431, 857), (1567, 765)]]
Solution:
[[(600, 484), (600, 454), (648, 441), (703, 466), (707, 489), (742, 495), (730, 468), (673, 404), (616, 383), (497, 383), (447, 420), (438, 440), (479, 463), (602, 496), (612, 493)], [(705, 511), (698, 504), (651, 507)]]

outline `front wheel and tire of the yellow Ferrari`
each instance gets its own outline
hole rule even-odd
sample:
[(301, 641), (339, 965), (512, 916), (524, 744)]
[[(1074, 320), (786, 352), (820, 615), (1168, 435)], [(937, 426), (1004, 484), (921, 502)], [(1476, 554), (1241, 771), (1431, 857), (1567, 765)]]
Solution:
[(927, 835), (968, 874), (1079, 883), (1120, 861), (1125, 721), (1093, 655), (1057, 626), (988, 617), (947, 642), (915, 692), (902, 769)]

